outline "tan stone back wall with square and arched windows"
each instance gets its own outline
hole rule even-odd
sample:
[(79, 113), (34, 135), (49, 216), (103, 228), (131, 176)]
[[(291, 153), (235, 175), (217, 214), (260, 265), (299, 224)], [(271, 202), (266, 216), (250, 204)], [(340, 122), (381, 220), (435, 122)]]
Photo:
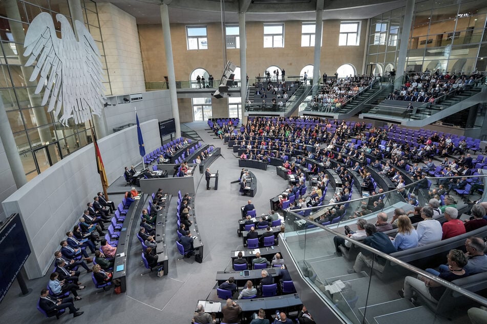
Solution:
[[(286, 21), (284, 24), (284, 48), (264, 49), (263, 22), (247, 22), (247, 74), (250, 78), (271, 66), (285, 68), (286, 75), (297, 75), (307, 64), (313, 64), (313, 47), (301, 47), (301, 21)], [(215, 78), (220, 78), (223, 70), (222, 37), (220, 24), (206, 24), (208, 49), (186, 48), (186, 25), (171, 25), (174, 68), (176, 80), (188, 80), (198, 67), (204, 68)], [(323, 21), (323, 46), (321, 73), (333, 75), (345, 63), (355, 66), (361, 73), (366, 48), (367, 20), (362, 20), (360, 44), (358, 46), (338, 46), (340, 20)], [(162, 29), (160, 25), (140, 25), (140, 48), (144, 62), (145, 80), (163, 81), (167, 75)], [(227, 60), (240, 65), (239, 49), (227, 49)]]

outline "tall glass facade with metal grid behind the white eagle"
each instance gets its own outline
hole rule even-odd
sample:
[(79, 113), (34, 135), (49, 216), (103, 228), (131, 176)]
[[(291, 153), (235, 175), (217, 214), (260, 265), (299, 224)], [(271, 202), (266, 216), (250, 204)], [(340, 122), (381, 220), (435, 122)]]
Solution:
[[(81, 1), (81, 7), (84, 24), (102, 55), (105, 95), (111, 95), (96, 4)], [(70, 119), (66, 126), (61, 125), (58, 115), (48, 112), (48, 105), (42, 105), (44, 91), (34, 93), (38, 79), (29, 80), (33, 66), (24, 66), (28, 57), (23, 56), (23, 44), (29, 24), (41, 12), (51, 14), (59, 38), (60, 23), (56, 20), (56, 14), (66, 16), (73, 24), (67, 0), (0, 2), (0, 96), (28, 180), (91, 143), (90, 124), (75, 125)]]

